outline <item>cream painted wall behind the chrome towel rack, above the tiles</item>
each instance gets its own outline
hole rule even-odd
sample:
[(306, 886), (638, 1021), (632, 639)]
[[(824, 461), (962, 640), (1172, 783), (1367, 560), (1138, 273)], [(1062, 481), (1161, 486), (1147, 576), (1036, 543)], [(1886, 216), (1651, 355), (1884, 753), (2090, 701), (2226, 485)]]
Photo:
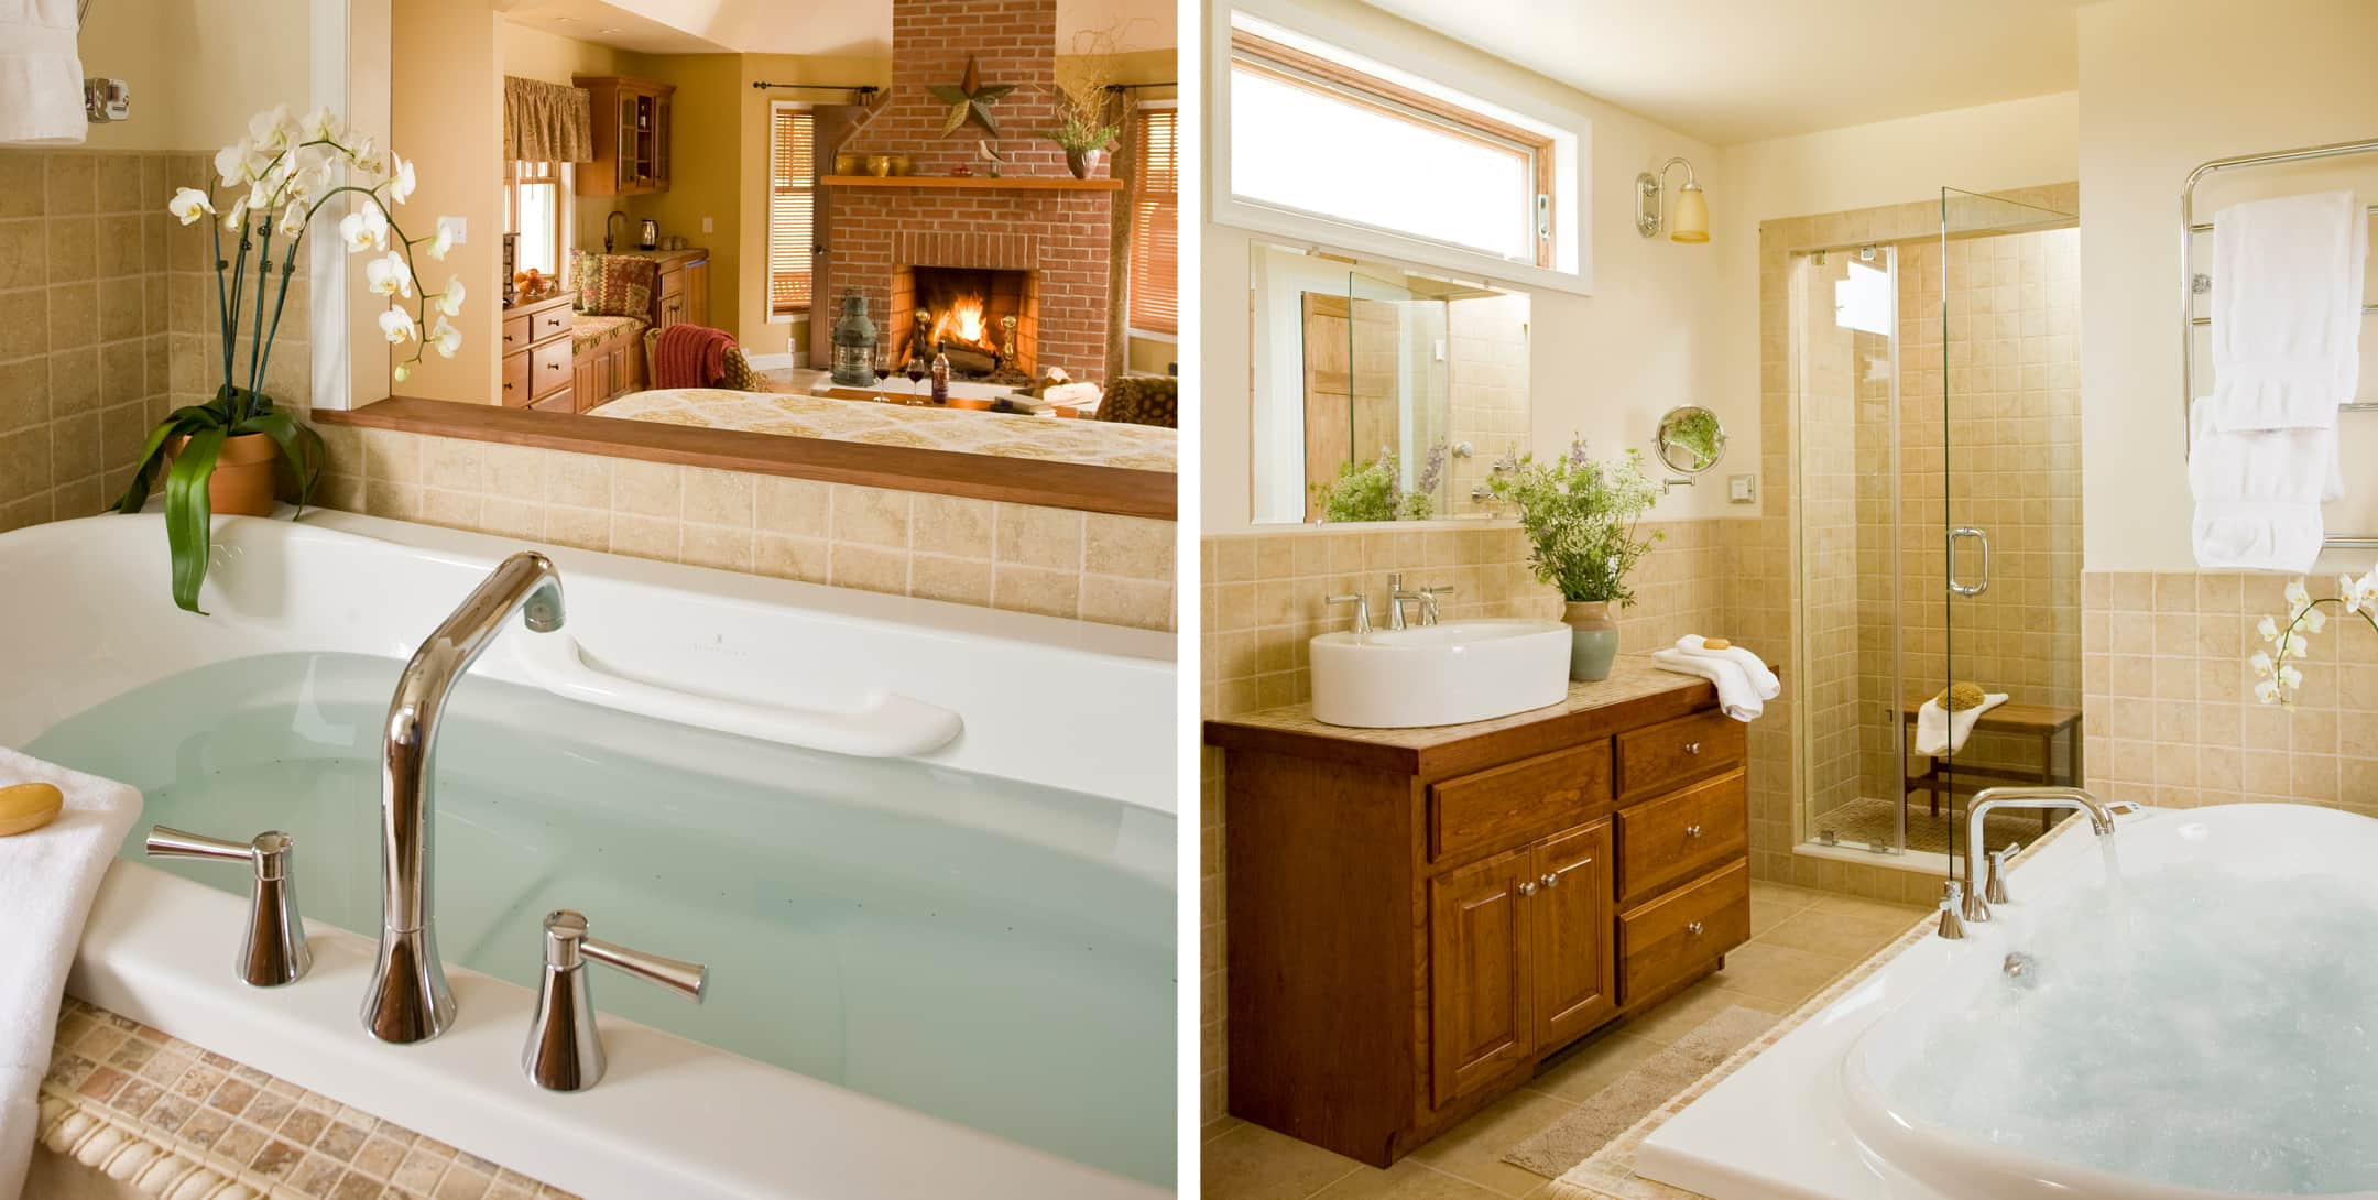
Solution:
[[(2214, 157), (2361, 140), (2378, 126), (2378, 5), (2366, 0), (2105, 0), (2081, 10), (2081, 475), (2088, 570), (2193, 570), (2181, 425), (2178, 195)], [(2359, 185), (2378, 159), (2338, 171), (2231, 173), (2200, 188), (2197, 219), (2261, 188)], [(2204, 200), (2212, 200), (2207, 207)], [(2209, 238), (2200, 238), (2209, 242)], [(2200, 247), (2200, 264), (2209, 254)], [(2378, 326), (2366, 326), (2378, 328)], [(2200, 347), (2200, 371), (2204, 352)], [(2364, 373), (2364, 397), (2378, 380)], [(2366, 416), (2347, 416), (2345, 461), (2366, 463)], [(2328, 532), (2373, 532), (2368, 470), (2345, 470)], [(2368, 570), (2368, 554), (2321, 570)]]

